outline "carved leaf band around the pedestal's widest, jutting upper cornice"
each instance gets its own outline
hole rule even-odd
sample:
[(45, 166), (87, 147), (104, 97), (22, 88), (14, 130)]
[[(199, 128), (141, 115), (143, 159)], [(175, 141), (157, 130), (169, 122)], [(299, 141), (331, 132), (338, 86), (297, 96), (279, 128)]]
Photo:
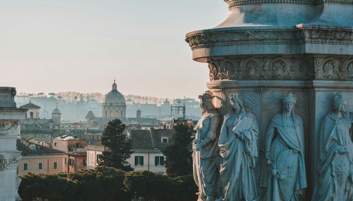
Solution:
[(342, 29), (338, 26), (325, 29), (323, 26), (306, 25), (296, 29), (281, 30), (212, 31), (191, 33), (187, 35), (186, 42), (192, 50), (231, 45), (300, 45), (305, 43), (353, 45), (353, 30)]

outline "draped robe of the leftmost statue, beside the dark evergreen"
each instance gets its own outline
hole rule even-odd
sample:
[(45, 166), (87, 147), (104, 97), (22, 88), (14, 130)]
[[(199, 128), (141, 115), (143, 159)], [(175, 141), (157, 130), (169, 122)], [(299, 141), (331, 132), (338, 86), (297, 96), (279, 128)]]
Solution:
[(216, 135), (215, 140), (202, 147), (200, 151), (193, 151), (194, 180), (200, 193), (198, 201), (215, 200), (221, 195), (218, 185), (219, 149), (217, 140), (219, 137), (219, 122), (220, 115), (218, 113), (209, 113), (203, 115), (196, 125), (200, 128), (200, 133), (196, 135), (201, 134), (201, 139), (207, 137), (210, 129), (213, 129), (211, 132)]

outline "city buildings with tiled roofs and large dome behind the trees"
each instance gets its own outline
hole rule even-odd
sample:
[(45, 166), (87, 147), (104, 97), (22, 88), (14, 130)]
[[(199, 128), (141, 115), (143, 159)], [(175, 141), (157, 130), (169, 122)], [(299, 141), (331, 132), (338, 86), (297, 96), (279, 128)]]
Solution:
[(124, 133), (132, 140), (134, 153), (128, 160), (131, 166), (135, 170), (166, 172), (161, 150), (171, 143), (170, 123), (141, 118), (140, 110), (137, 110), (136, 118), (127, 118), (125, 98), (117, 91), (115, 80), (111, 91), (105, 95), (102, 117), (95, 117), (89, 111), (85, 122), (62, 122), (57, 106), (51, 116), (45, 107), (40, 113), (41, 108), (31, 102), (19, 108), (28, 110), (26, 118), (21, 120), (17, 141), (17, 148), (22, 152), (17, 167), (19, 175), (27, 172), (70, 173), (95, 168), (104, 151), (100, 141), (104, 128), (107, 122), (116, 118), (126, 125)]

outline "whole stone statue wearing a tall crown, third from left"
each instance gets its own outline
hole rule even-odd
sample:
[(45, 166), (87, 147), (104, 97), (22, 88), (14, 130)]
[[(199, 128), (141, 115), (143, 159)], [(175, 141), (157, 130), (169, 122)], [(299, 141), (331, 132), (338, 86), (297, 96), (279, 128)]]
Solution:
[(297, 98), (289, 93), (282, 98), (283, 112), (275, 115), (266, 134), (267, 171), (261, 187), (267, 188), (265, 200), (301, 200), (307, 187), (304, 163), (304, 128), (294, 113)]

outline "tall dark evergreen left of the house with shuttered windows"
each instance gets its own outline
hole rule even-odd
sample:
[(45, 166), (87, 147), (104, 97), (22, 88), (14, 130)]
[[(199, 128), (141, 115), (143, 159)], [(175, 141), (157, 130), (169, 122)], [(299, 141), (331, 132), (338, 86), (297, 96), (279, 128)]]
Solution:
[(120, 119), (108, 122), (101, 138), (104, 151), (99, 158), (99, 165), (124, 171), (134, 170), (127, 162), (133, 151), (131, 150), (131, 140), (127, 139), (126, 135), (123, 134), (124, 130), (125, 124)]

